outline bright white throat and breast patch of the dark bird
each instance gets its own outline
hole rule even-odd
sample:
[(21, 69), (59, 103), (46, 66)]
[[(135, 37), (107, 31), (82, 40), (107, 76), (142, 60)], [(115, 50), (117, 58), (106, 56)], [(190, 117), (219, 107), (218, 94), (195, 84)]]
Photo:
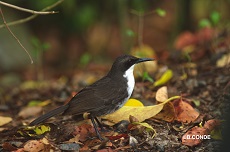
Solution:
[(127, 79), (127, 91), (128, 91), (128, 97), (126, 100), (128, 100), (133, 92), (134, 85), (135, 85), (135, 80), (133, 76), (133, 70), (134, 70), (134, 65), (132, 65), (128, 70), (126, 70), (125, 74), (123, 75), (124, 78)]

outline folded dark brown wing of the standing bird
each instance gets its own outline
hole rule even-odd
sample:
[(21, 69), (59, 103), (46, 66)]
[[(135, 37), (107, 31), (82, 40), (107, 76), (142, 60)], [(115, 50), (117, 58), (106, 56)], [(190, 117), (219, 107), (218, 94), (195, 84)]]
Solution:
[(85, 112), (90, 113), (91, 111), (101, 110), (106, 106), (116, 104), (116, 102), (128, 97), (126, 82), (122, 85), (124, 87), (118, 87), (117, 82), (114, 82), (109, 77), (104, 77), (75, 95), (68, 103), (69, 107), (64, 114), (78, 115)]

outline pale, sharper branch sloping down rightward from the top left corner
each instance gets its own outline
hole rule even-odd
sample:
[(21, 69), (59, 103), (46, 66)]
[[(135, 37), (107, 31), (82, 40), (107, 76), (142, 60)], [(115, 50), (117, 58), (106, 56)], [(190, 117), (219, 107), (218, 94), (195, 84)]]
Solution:
[(34, 10), (19, 7), (19, 6), (16, 6), (16, 5), (12, 5), (12, 4), (9, 4), (9, 3), (5, 3), (5, 2), (2, 2), (2, 1), (0, 1), (0, 4), (8, 6), (8, 7), (11, 7), (11, 8), (14, 8), (16, 10), (20, 10), (20, 11), (23, 11), (23, 12), (28, 12), (28, 13), (31, 13), (31, 14), (46, 15), (46, 14), (57, 13), (55, 11), (51, 11), (51, 12), (34, 11)]

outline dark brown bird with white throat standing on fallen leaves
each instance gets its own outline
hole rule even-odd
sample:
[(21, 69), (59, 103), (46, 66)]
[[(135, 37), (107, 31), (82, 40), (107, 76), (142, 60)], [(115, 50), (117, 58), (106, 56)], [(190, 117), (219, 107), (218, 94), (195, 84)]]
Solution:
[(45, 113), (29, 125), (38, 125), (61, 113), (62, 115), (74, 116), (87, 113), (97, 137), (103, 140), (97, 129), (96, 122), (99, 127), (102, 127), (97, 117), (113, 113), (127, 102), (135, 85), (134, 66), (141, 62), (153, 60), (152, 58), (138, 58), (127, 54), (117, 57), (107, 75), (80, 90), (67, 104)]

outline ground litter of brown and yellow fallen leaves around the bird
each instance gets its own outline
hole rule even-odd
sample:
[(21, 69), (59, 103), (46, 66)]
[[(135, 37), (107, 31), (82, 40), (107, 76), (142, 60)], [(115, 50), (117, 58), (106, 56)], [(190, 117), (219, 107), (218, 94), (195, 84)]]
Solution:
[[(201, 149), (214, 151), (214, 149), (218, 149), (220, 147), (218, 139), (221, 139), (218, 128), (223, 127), (220, 119), (223, 119), (227, 111), (227, 102), (225, 101), (228, 101), (227, 97), (230, 92), (230, 85), (227, 85), (230, 77), (226, 68), (227, 61), (223, 61), (224, 64), (221, 63), (221, 66), (218, 65), (219, 67), (215, 67), (215, 64), (210, 66), (198, 62), (198, 59), (204, 57), (202, 55), (204, 49), (200, 50), (199, 55), (196, 54), (195, 48), (200, 45), (197, 44), (197, 39), (204, 36), (205, 32), (210, 31), (203, 31), (195, 37), (190, 33), (190, 36), (187, 35), (188, 40), (186, 41), (191, 42), (180, 42), (180, 44), (178, 42), (177, 44), (179, 49), (182, 48), (183, 51), (188, 51), (187, 53), (191, 51), (193, 62), (190, 62), (190, 65), (195, 66), (186, 66), (186, 64), (180, 64), (179, 61), (170, 61), (172, 66), (169, 66), (168, 71), (160, 72), (161, 75), (154, 76), (156, 73), (148, 73), (154, 82), (141, 82), (140, 77), (136, 78), (136, 87), (138, 86), (138, 88), (135, 88), (131, 99), (131, 101), (135, 100), (135, 104), (132, 105), (131, 102), (123, 108), (123, 112), (120, 114), (119, 112), (118, 114), (114, 113), (113, 117), (106, 118), (108, 116), (105, 116), (102, 119), (102, 122), (105, 122), (105, 118), (107, 121), (113, 122), (110, 125), (104, 123), (103, 128), (99, 128), (102, 136), (107, 139), (105, 141), (95, 138), (96, 134), (90, 122), (77, 123), (78, 121), (66, 116), (50, 119), (48, 126), (52, 127), (49, 129), (41, 127), (43, 129), (38, 130), (42, 130), (42, 133), (37, 133), (34, 129), (22, 129), (22, 126), (26, 127), (26, 124), (39, 116), (42, 111), (49, 111), (64, 104), (71, 98), (72, 92), (78, 91), (82, 85), (91, 83), (93, 78), (89, 82), (83, 83), (79, 82), (81, 79), (74, 80), (74, 78), (73, 80), (60, 78), (44, 82), (25, 81), (21, 85), (13, 87), (10, 92), (3, 92), (2, 97), (6, 102), (1, 104), (0, 115), (7, 119), (1, 119), (3, 121), (0, 126), (1, 150), (74, 149), (103, 152), (199, 151)], [(205, 39), (209, 41), (210, 37)], [(186, 48), (186, 45), (193, 46)], [(201, 45), (201, 47), (204, 46)], [(207, 62), (206, 59), (205, 63)], [(154, 67), (154, 72), (159, 70), (156, 68), (157, 66)], [(84, 78), (84, 73), (80, 75)], [(88, 75), (92, 77), (94, 73), (88, 73)], [(71, 85), (67, 82), (76, 85), (70, 87)], [(161, 86), (163, 87), (161, 88)], [(148, 93), (149, 95), (147, 95)], [(156, 98), (153, 98), (155, 96)], [(148, 105), (146, 105), (146, 101), (148, 101)], [(152, 105), (149, 105), (149, 102)], [(24, 108), (29, 107), (28, 105), (42, 107), (42, 111), (30, 110), (32, 113), (27, 113)], [(23, 111), (26, 114), (18, 116)], [(130, 119), (131, 116), (132, 119)], [(117, 130), (117, 128), (120, 129)], [(20, 134), (18, 131), (24, 131), (24, 134)], [(217, 140), (212, 137), (198, 142), (197, 140), (184, 140), (184, 136), (194, 134), (210, 134)]]

